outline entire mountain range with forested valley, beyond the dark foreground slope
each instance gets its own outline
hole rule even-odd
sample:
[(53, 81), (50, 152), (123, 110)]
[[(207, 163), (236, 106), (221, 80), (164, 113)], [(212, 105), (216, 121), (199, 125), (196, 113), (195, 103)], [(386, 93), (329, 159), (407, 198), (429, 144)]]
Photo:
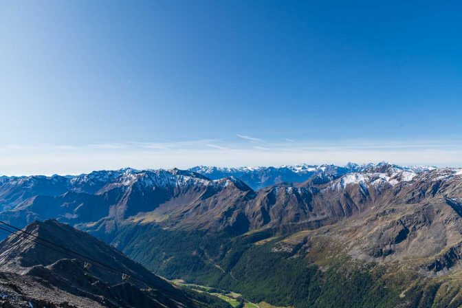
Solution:
[(56, 219), (156, 274), (254, 303), (459, 307), (461, 188), (459, 168), (387, 163), (124, 168), (1, 177), (0, 221)]

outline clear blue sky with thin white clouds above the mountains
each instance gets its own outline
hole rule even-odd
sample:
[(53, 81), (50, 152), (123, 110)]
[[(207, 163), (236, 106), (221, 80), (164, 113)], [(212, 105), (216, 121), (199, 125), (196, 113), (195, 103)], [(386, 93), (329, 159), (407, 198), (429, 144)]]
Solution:
[(0, 173), (462, 165), (457, 1), (2, 1)]

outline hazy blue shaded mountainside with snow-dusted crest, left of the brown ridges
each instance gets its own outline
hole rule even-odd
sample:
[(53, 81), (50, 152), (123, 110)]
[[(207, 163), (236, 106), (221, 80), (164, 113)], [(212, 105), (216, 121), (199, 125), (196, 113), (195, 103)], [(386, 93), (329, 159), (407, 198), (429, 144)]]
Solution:
[[(232, 195), (230, 190), (252, 192), (251, 188), (234, 177), (212, 181), (202, 175), (177, 169), (131, 171), (102, 186), (94, 194), (68, 190), (57, 196), (30, 197), (13, 208), (0, 211), (0, 219), (21, 227), (36, 219), (50, 218), (73, 225), (104, 221), (116, 225), (170, 201), (179, 203), (210, 199), (221, 192)], [(104, 228), (112, 227), (105, 225)]]

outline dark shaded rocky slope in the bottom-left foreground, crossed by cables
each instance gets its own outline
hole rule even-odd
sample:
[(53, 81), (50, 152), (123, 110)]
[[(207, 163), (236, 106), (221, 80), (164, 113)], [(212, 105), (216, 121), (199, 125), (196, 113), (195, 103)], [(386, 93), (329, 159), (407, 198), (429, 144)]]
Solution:
[[(190, 300), (181, 289), (149, 272), (139, 263), (131, 261), (104, 242), (69, 225), (52, 220), (34, 222), (25, 228), (25, 232), (79, 252), (91, 258), (89, 262), (94, 264), (85, 268), (80, 259), (73, 259), (72, 255), (45, 247), (44, 245), (50, 245), (49, 242), (40, 239), (39, 243), (43, 243), (40, 245), (21, 236), (11, 235), (0, 243), (0, 272), (28, 277), (8, 276), (12, 277), (11, 279), (39, 281), (45, 287), (65, 294), (63, 298), (83, 298), (82, 303), (95, 301), (102, 307), (203, 307), (200, 303)], [(133, 279), (123, 281), (120, 272), (108, 270), (100, 264), (120, 269)], [(28, 292), (17, 293), (34, 294), (35, 287), (37, 286), (32, 285)], [(46, 299), (47, 296), (39, 298)], [(56, 302), (52, 296), (48, 300)], [(73, 305), (94, 307), (78, 303)]]

